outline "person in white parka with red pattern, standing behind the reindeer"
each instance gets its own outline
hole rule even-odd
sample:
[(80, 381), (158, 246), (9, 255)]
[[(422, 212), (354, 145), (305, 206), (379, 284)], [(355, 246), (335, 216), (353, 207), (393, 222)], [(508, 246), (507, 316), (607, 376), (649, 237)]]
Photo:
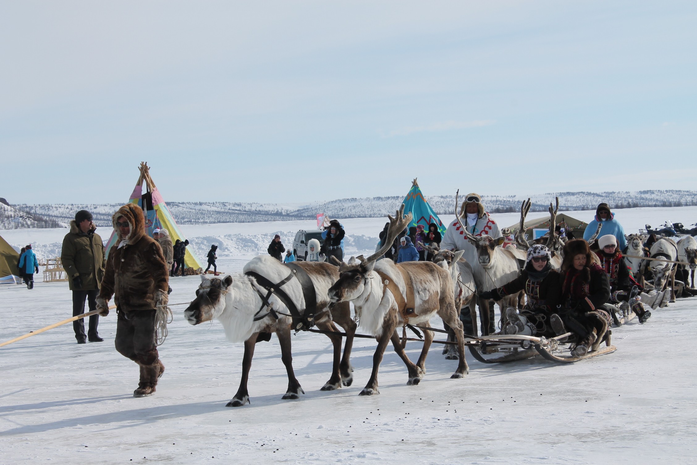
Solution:
[[(489, 236), (492, 239), (501, 237), (501, 233), (498, 231), (498, 224), (489, 216), (489, 213), (484, 211), (482, 196), (479, 194), (473, 192), (465, 196), (460, 210), (460, 218), (467, 228), (467, 231), (473, 236)], [(441, 242), (441, 248), (447, 250), (464, 250), (465, 253), (462, 257), (470, 264), (475, 264), (478, 261), (477, 248), (470, 244), (464, 231), (461, 231), (457, 219), (447, 227), (445, 235), (443, 236), (443, 241)], [(460, 319), (465, 326), (465, 333), (472, 334), (472, 319), (469, 309), (460, 313)], [(489, 334), (493, 334), (495, 330), (493, 321), (493, 306), (491, 306), (489, 308)], [(482, 328), (482, 334), (486, 334), (484, 328)]]

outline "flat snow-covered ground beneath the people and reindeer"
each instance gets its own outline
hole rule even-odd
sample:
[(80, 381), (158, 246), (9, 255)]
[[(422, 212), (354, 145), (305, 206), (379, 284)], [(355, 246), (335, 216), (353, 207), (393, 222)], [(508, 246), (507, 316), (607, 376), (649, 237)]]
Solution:
[[(654, 218), (687, 224), (696, 216), (697, 207), (618, 211), (627, 231), (658, 223)], [(516, 219), (497, 215), (502, 226)], [(185, 234), (220, 238), (312, 226), (297, 223), (187, 226)], [(383, 220), (344, 225), (350, 234), (377, 236)], [(55, 243), (65, 232), (0, 234), (13, 244)], [(236, 272), (245, 261), (224, 257), (219, 269)], [(195, 276), (173, 278), (170, 302), (191, 300), (198, 283)], [(32, 291), (0, 287), (0, 342), (70, 317), (70, 297), (64, 282), (37, 282)], [(220, 323), (190, 326), (185, 305), (173, 307), (160, 347), (167, 372), (155, 395), (134, 399), (137, 365), (114, 349), (112, 312), (100, 319), (102, 343), (75, 344), (68, 324), (0, 348), (0, 463), (697, 463), (696, 306), (697, 298), (681, 299), (655, 310), (645, 325), (614, 328), (618, 351), (574, 365), (483, 365), (468, 353), (470, 374), (456, 380), (450, 375), (457, 361), (445, 360), (434, 344), (423, 381), (406, 386), (406, 368), (390, 348), (381, 394), (373, 397), (358, 396), (372, 367), (373, 340), (355, 340), (353, 386), (321, 392), (330, 342), (299, 333), (293, 365), (305, 395), (282, 400), (287, 379), (273, 337), (256, 346), (252, 404), (236, 409), (224, 405), (240, 381), (243, 346), (227, 342)], [(412, 360), (420, 346), (408, 343)]]

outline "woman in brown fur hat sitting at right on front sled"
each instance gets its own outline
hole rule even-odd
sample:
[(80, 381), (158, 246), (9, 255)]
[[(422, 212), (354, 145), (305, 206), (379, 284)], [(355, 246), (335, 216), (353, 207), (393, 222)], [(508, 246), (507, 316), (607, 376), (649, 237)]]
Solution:
[(579, 337), (572, 356), (585, 356), (588, 349), (597, 349), (605, 339), (611, 321), (603, 308), (610, 298), (610, 281), (585, 240), (574, 239), (564, 245), (560, 283), (563, 302), (560, 317)]

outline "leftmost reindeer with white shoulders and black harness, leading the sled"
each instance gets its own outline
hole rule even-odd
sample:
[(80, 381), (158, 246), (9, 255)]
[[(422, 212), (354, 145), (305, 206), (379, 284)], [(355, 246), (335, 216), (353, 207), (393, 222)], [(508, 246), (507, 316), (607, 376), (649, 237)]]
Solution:
[[(316, 314), (314, 323), (320, 330), (328, 332), (328, 337), (334, 345), (334, 363), (332, 376), (321, 390), (335, 390), (342, 386), (351, 386), (353, 368), (349, 361), (356, 323), (351, 319), (351, 308), (348, 303), (339, 303), (330, 308), (327, 290), (339, 279), (336, 266), (327, 263), (300, 261), (297, 264), (305, 270), (314, 285), (316, 294)], [(252, 366), (254, 345), (260, 340), (270, 340), (270, 333), (275, 332), (281, 345), (281, 360), (288, 372), (288, 390), (283, 399), (298, 399), (305, 394), (293, 372), (291, 355), (291, 317), (290, 311), (283, 298), (268, 291), (251, 273), (259, 273), (274, 283), (282, 282), (293, 275), (291, 269), (277, 259), (268, 255), (254, 257), (245, 265), (245, 273), (236, 273), (222, 278), (208, 279), (201, 276), (201, 284), (196, 291), (196, 298), (184, 311), (189, 323), (197, 325), (204, 321), (218, 319), (225, 330), (230, 342), (245, 343), (245, 354), (242, 362), (242, 379), (235, 396), (227, 406), (243, 406), (250, 403), (247, 391), (247, 379)], [(298, 279), (290, 279), (279, 286), (284, 290), (293, 305), (298, 309), (307, 308), (305, 296)], [(266, 298), (264, 297), (266, 296)], [(266, 301), (265, 301), (266, 299)], [(346, 330), (346, 344), (342, 358), (342, 336), (334, 323)]]

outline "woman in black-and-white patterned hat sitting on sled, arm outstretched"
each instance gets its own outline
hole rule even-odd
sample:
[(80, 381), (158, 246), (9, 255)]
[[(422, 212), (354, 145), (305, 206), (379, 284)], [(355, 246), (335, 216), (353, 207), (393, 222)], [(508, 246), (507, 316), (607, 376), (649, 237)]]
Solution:
[(525, 268), (521, 275), (498, 289), (482, 292), (482, 299), (501, 300), (505, 296), (525, 291), (528, 303), (520, 314), (514, 308), (505, 310), (504, 334), (528, 336), (558, 336), (566, 333), (562, 319), (556, 314), (561, 303), (559, 273), (549, 261), (552, 255), (546, 245), (533, 245), (528, 249)]

